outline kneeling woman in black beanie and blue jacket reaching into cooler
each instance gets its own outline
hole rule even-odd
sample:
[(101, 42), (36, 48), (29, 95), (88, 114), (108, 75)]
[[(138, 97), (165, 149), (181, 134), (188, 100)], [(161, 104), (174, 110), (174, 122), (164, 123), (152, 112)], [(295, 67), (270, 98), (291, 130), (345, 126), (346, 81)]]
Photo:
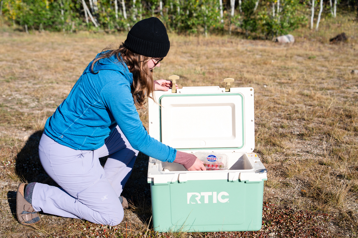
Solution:
[[(168, 54), (165, 26), (156, 17), (137, 22), (117, 50), (97, 55), (66, 100), (48, 118), (39, 144), (47, 174), (61, 188), (21, 183), (16, 215), (23, 225), (40, 221), (37, 212), (115, 226), (127, 201), (120, 194), (139, 151), (161, 161), (205, 170), (194, 155), (151, 138), (136, 110), (153, 90), (168, 90), (170, 81), (153, 83), (152, 70)], [(102, 168), (98, 158), (108, 156)]]

